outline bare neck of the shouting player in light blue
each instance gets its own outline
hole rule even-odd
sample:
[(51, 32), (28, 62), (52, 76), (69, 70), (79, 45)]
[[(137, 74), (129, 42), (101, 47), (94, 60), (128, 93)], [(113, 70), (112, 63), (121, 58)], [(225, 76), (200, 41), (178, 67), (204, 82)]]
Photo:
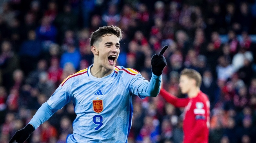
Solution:
[(93, 66), (91, 67), (91, 74), (94, 77), (102, 78), (112, 73), (113, 70), (107, 70), (103, 66), (93, 63)]

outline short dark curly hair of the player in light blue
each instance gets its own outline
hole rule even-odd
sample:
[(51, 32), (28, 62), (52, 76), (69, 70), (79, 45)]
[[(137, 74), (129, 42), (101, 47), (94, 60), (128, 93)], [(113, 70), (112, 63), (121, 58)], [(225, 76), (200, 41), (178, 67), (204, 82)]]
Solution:
[(122, 30), (119, 27), (116, 26), (104, 26), (100, 27), (96, 31), (94, 31), (91, 34), (90, 38), (90, 46), (93, 46), (94, 43), (98, 42), (101, 40), (102, 36), (106, 36), (107, 34), (114, 34), (116, 35), (120, 40), (122, 39)]

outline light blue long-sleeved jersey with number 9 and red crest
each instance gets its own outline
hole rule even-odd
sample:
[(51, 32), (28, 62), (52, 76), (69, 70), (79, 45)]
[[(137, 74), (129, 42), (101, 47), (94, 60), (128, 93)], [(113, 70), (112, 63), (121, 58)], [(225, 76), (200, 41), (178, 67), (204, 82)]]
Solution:
[(67, 77), (29, 123), (36, 129), (72, 100), (77, 116), (67, 143), (127, 142), (132, 95), (158, 95), (162, 76), (153, 75), (149, 82), (134, 69), (116, 66), (110, 75), (96, 78), (90, 73), (92, 66)]

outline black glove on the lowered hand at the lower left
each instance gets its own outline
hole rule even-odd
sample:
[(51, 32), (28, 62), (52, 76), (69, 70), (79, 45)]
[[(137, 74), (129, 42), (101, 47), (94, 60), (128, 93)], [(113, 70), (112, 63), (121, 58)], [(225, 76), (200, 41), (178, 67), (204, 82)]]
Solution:
[(34, 127), (31, 124), (27, 124), (23, 129), (18, 130), (13, 135), (13, 138), (9, 141), (9, 143), (13, 143), (16, 141), (17, 143), (23, 143), (27, 138), (29, 138), (30, 134), (34, 131)]

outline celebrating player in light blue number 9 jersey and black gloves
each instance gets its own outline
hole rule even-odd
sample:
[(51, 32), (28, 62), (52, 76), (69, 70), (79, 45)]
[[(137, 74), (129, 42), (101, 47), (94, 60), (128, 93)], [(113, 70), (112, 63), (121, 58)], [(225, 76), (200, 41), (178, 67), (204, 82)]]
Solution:
[(153, 55), (153, 74), (147, 81), (134, 69), (115, 66), (120, 39), (121, 29), (115, 26), (100, 27), (93, 32), (90, 46), (94, 63), (67, 77), (9, 143), (23, 143), (40, 124), (71, 100), (77, 116), (67, 143), (125, 143), (133, 116), (132, 95), (140, 98), (158, 95), (166, 65), (163, 53), (168, 46)]

